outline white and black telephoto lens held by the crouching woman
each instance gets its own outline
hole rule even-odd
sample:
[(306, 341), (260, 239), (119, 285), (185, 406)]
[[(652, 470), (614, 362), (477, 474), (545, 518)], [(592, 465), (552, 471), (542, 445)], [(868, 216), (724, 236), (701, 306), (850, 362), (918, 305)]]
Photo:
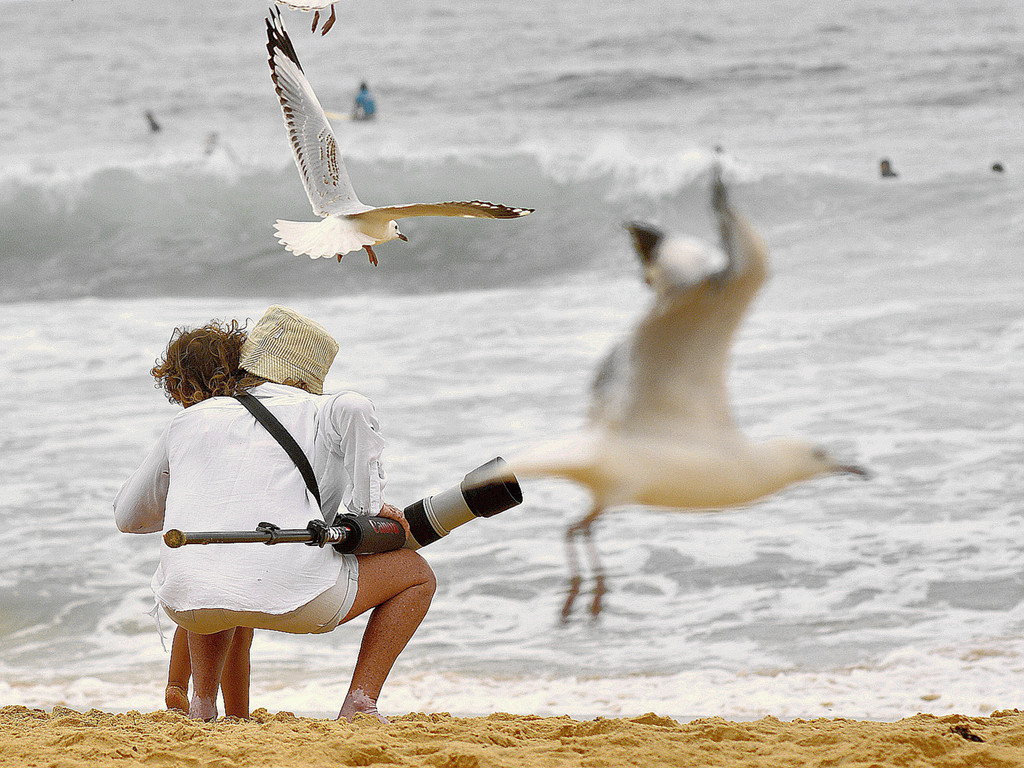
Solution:
[(522, 504), (519, 481), (504, 459), (492, 459), (447, 490), (421, 499), (403, 510), (412, 536), (409, 549), (433, 544), (475, 517), (493, 517)]

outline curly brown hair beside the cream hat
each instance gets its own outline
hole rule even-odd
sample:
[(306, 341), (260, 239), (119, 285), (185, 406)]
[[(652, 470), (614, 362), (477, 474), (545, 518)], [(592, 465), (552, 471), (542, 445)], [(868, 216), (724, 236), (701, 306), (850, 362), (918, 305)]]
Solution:
[(167, 399), (184, 408), (208, 397), (230, 396), (266, 379), (239, 367), (247, 338), (238, 321), (213, 319), (200, 328), (175, 328), (164, 354), (150, 372)]

